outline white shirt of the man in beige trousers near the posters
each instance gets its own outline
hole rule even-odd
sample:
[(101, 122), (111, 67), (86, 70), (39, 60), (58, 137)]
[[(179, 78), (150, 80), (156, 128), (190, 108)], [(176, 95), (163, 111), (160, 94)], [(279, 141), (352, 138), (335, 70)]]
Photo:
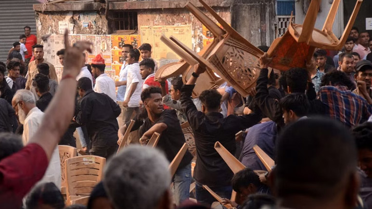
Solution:
[(138, 83), (137, 87), (135, 88), (132, 96), (129, 99), (128, 107), (139, 107), (141, 101), (141, 92), (142, 92), (142, 85), (143, 80), (140, 73), (140, 64), (133, 63), (128, 65), (127, 67), (128, 74), (127, 74), (127, 89), (125, 90), (125, 97), (124, 100), (129, 97), (129, 90), (133, 83)]

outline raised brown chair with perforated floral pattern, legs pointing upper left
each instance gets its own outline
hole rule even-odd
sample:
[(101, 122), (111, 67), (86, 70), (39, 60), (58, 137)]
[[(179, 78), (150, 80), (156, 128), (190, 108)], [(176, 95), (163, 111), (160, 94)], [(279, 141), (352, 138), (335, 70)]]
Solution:
[[(170, 36), (170, 40), (162, 36), (161, 40), (190, 65), (194, 65), (196, 61), (206, 69), (206, 73), (216, 72), (243, 97), (247, 97), (251, 89), (256, 86), (260, 71), (258, 60), (263, 52), (244, 39), (205, 2), (202, 0), (199, 0), (199, 2), (223, 27), (223, 29), (219, 27), (192, 3), (189, 2), (186, 5), (186, 8), (213, 33), (214, 40), (205, 49), (205, 52), (201, 55), (195, 53), (173, 36)], [(190, 56), (187, 56), (185, 52)], [(192, 71), (188, 73), (191, 75)], [(207, 83), (202, 80), (201, 83), (203, 82)], [(198, 85), (197, 83), (195, 88)]]

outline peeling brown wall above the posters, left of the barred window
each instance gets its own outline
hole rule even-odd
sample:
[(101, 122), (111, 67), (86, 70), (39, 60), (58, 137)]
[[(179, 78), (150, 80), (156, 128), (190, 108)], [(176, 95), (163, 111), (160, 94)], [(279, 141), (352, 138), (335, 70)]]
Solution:
[[(60, 23), (68, 23), (71, 34), (107, 34), (107, 21), (97, 12), (45, 12), (36, 13), (37, 37), (61, 34)], [(41, 40), (38, 40), (40, 42)]]

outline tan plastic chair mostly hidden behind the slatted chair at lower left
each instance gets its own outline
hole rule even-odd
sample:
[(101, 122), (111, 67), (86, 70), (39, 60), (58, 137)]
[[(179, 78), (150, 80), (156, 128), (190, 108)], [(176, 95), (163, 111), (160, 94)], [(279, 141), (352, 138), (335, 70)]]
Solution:
[(58, 145), (58, 151), (60, 152), (60, 163), (61, 163), (61, 193), (66, 196), (66, 173), (65, 173), (65, 160), (77, 156), (77, 149), (73, 146)]

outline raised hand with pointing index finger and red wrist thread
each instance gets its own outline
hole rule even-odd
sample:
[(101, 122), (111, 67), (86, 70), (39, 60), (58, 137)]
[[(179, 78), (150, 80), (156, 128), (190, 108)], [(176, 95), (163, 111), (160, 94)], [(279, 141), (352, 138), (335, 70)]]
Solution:
[(73, 78), (79, 75), (82, 63), (84, 62), (83, 52), (87, 50), (92, 52), (90, 46), (92, 43), (87, 41), (76, 42), (71, 46), (68, 39), (68, 30), (65, 31), (65, 62), (63, 68), (63, 76), (69, 74)]

